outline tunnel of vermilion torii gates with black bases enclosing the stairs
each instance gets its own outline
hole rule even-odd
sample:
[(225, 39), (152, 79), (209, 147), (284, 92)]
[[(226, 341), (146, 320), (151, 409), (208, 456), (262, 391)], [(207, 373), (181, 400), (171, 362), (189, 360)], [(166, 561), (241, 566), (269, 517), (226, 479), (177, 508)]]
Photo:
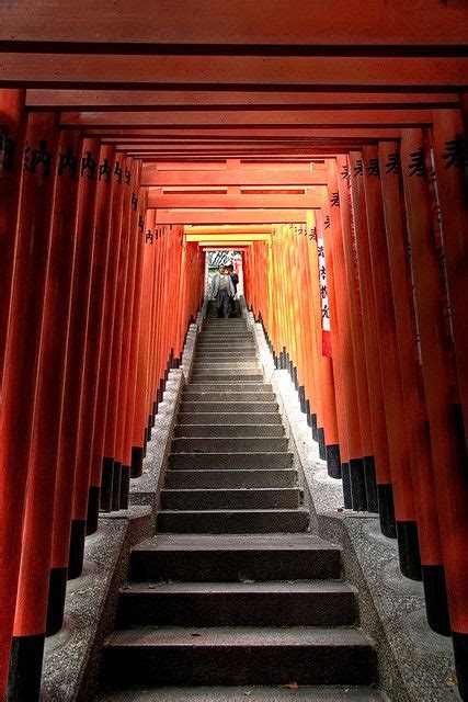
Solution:
[(95, 5), (0, 11), (1, 699), (141, 474), (207, 248), (467, 695), (466, 3)]

